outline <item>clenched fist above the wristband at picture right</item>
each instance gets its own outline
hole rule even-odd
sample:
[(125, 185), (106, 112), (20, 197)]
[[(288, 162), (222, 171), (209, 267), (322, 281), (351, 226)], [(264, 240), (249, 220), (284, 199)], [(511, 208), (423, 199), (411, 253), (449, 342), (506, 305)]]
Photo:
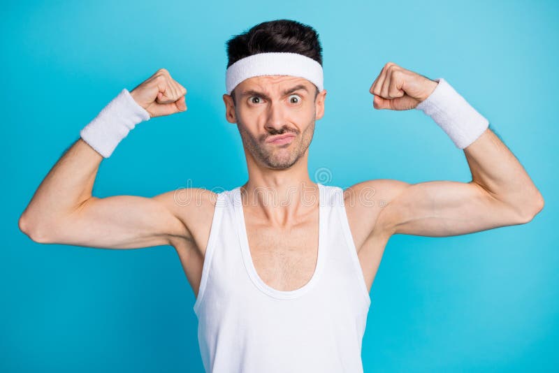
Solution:
[(369, 89), (375, 109), (409, 110), (425, 100), (437, 87), (435, 80), (389, 62)]

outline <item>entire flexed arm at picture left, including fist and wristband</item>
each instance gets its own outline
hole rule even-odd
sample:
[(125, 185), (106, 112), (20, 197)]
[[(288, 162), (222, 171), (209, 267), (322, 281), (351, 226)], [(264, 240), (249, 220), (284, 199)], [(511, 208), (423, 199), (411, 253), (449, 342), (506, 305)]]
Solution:
[[(103, 157), (108, 158), (119, 140), (142, 120), (186, 110), (184, 94), (186, 89), (164, 69), (132, 92), (123, 90), (80, 132), (81, 138), (41, 182), (20, 217), (21, 231), (36, 242), (107, 249), (191, 239), (185, 210), (194, 213), (197, 207), (177, 203), (174, 191), (153, 198), (92, 196)], [(210, 200), (208, 193), (203, 195)]]

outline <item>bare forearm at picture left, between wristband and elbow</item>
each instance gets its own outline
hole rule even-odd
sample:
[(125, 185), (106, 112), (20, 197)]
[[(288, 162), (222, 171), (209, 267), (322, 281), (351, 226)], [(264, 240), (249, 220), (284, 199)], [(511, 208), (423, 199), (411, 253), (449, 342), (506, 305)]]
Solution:
[(92, 196), (103, 156), (79, 138), (51, 168), (22, 213), (20, 228), (42, 235)]

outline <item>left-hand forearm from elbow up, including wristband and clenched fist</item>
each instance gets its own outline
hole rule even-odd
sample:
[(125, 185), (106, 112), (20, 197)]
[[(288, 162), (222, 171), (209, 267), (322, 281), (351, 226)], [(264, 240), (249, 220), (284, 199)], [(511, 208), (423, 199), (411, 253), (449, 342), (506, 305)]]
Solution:
[[(124, 88), (80, 131), (80, 138), (65, 152), (39, 185), (20, 217), (20, 230), (41, 241), (50, 230), (86, 201), (92, 191), (99, 164), (108, 158), (136, 124), (151, 117), (187, 110), (187, 90), (159, 69), (133, 92)], [(150, 111), (148, 111), (148, 109)]]

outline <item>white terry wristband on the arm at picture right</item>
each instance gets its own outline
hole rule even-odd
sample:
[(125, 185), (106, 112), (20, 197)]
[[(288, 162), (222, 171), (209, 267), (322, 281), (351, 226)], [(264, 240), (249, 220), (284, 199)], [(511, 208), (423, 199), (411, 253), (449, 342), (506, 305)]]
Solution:
[(464, 149), (477, 140), (488, 128), (489, 122), (456, 92), (443, 78), (435, 90), (421, 101), (416, 109), (423, 111), (443, 129), (454, 145)]

